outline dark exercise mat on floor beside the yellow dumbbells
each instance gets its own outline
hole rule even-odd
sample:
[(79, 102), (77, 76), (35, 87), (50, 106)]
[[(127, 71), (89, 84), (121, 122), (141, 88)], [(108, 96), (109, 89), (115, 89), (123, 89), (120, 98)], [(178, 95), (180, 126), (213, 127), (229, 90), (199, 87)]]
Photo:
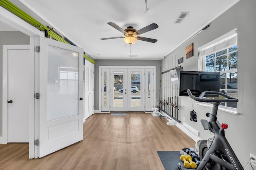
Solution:
[(157, 153), (166, 170), (178, 170), (178, 163), (180, 163), (182, 170), (186, 169), (180, 160), (180, 151), (157, 151)]

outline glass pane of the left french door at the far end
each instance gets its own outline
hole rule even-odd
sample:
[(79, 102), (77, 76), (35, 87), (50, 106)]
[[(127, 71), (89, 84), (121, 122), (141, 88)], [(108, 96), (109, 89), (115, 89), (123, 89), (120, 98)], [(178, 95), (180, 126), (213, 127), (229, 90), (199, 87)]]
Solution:
[(114, 72), (113, 107), (124, 107), (124, 72)]

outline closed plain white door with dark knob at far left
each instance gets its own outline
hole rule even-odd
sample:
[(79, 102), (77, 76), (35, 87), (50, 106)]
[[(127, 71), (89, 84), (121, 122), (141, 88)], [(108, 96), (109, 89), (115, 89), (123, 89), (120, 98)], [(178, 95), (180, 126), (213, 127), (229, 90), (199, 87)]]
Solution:
[[(8, 143), (29, 142), (30, 49), (29, 45), (4, 45), (3, 76), (7, 79)], [(7, 65), (7, 67), (6, 67)], [(7, 68), (7, 69), (5, 69)], [(7, 72), (5, 72), (7, 70)], [(5, 81), (4, 81), (5, 82)]]

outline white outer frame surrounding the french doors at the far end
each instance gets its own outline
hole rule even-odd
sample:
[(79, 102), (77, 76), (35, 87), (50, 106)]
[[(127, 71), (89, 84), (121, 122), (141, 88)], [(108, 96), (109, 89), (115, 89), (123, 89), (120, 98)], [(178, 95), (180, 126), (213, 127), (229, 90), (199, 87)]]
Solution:
[[(107, 108), (104, 108), (104, 111), (102, 111), (102, 92), (104, 92), (104, 87), (102, 86), (102, 84), (104, 84), (104, 77), (102, 77), (102, 70), (104, 69), (105, 71), (106, 70), (109, 70), (108, 73), (110, 73), (110, 68), (145, 68), (145, 74), (146, 74), (146, 70), (147, 68), (152, 68), (153, 69), (153, 72), (152, 72), (152, 89), (153, 89), (153, 94), (152, 94), (152, 108), (155, 107), (155, 104), (156, 104), (156, 66), (99, 66), (99, 100), (98, 100), (98, 104), (99, 104), (99, 110), (98, 112), (99, 113), (109, 113), (110, 112), (110, 107)], [(109, 75), (108, 75), (109, 76)], [(109, 78), (110, 79), (110, 78)], [(109, 80), (110, 81), (110, 80)], [(146, 81), (145, 81), (145, 84), (146, 84)], [(110, 82), (107, 82), (107, 85), (110, 86)], [(109, 92), (108, 90), (109, 88), (107, 88), (107, 93)], [(146, 89), (146, 88), (145, 88)], [(108, 95), (110, 96), (110, 95)], [(108, 100), (111, 100), (110, 97), (108, 98)], [(144, 100), (146, 101), (146, 100)], [(109, 105), (110, 106), (110, 102), (109, 102)], [(146, 110), (146, 106), (145, 106), (145, 109), (144, 109), (145, 112), (149, 112), (148, 110)]]

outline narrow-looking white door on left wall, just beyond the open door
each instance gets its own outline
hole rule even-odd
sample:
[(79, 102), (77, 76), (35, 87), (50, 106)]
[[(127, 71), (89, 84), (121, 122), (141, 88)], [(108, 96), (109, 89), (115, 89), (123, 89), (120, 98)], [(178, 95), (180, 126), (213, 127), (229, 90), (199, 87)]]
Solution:
[(94, 65), (85, 62), (85, 86), (84, 86), (84, 118), (93, 114), (94, 109)]

